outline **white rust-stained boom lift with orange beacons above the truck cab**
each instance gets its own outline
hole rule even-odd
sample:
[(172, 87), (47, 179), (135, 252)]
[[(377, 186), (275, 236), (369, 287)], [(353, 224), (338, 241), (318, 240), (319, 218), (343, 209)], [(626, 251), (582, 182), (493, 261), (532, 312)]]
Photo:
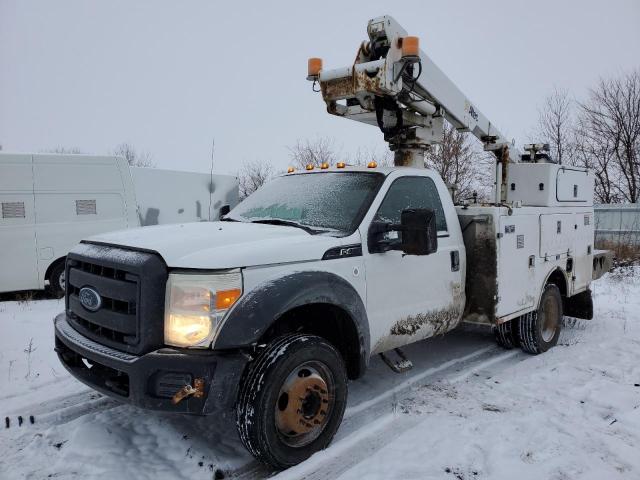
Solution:
[[(504, 185), (503, 165), (520, 162), (521, 154), (438, 66), (418, 48), (392, 17), (369, 21), (369, 41), (362, 43), (352, 66), (324, 70), (309, 60), (308, 80), (319, 83), (327, 111), (377, 125), (396, 166), (424, 166), (424, 152), (440, 143), (443, 119), (469, 131), (496, 155), (496, 184)], [(532, 146), (532, 160), (537, 150)], [(496, 203), (504, 189), (496, 188)]]

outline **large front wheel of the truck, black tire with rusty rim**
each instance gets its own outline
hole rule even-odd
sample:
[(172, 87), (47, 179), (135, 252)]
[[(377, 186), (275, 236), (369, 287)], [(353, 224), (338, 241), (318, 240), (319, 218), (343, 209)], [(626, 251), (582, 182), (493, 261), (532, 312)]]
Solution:
[(346, 402), (340, 353), (321, 337), (286, 335), (250, 364), (240, 387), (236, 426), (258, 460), (288, 468), (329, 445)]

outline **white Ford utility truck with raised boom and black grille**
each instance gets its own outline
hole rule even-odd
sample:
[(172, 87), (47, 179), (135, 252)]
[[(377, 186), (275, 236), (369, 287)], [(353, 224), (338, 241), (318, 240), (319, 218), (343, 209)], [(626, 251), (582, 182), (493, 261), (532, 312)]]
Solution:
[[(134, 405), (234, 419), (285, 468), (329, 444), (373, 355), (403, 372), (400, 347), (463, 320), (537, 354), (563, 313), (591, 318), (591, 173), (539, 146), (518, 154), (391, 17), (368, 32), (353, 65), (312, 59), (309, 79), (330, 113), (382, 130), (396, 167), (290, 169), (220, 222), (82, 242), (55, 319), (73, 375)], [(445, 119), (496, 153), (492, 202), (456, 207), (423, 168)]]

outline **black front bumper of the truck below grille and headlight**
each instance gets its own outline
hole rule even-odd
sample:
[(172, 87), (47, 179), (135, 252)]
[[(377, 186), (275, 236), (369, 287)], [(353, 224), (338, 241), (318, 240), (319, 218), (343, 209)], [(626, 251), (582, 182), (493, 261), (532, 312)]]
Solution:
[[(56, 352), (63, 366), (90, 387), (142, 408), (196, 415), (231, 416), (248, 357), (240, 352), (162, 348), (131, 355), (78, 333), (66, 314), (54, 320)], [(171, 397), (186, 383), (204, 379), (202, 398), (177, 405)]]

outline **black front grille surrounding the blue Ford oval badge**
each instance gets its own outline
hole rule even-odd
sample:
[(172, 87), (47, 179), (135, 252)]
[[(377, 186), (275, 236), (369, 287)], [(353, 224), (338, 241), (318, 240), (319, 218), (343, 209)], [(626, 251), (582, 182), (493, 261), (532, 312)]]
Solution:
[[(162, 342), (166, 266), (153, 253), (81, 244), (67, 257), (69, 322), (104, 345), (144, 353)], [(97, 311), (85, 308), (80, 290), (100, 295)]]

